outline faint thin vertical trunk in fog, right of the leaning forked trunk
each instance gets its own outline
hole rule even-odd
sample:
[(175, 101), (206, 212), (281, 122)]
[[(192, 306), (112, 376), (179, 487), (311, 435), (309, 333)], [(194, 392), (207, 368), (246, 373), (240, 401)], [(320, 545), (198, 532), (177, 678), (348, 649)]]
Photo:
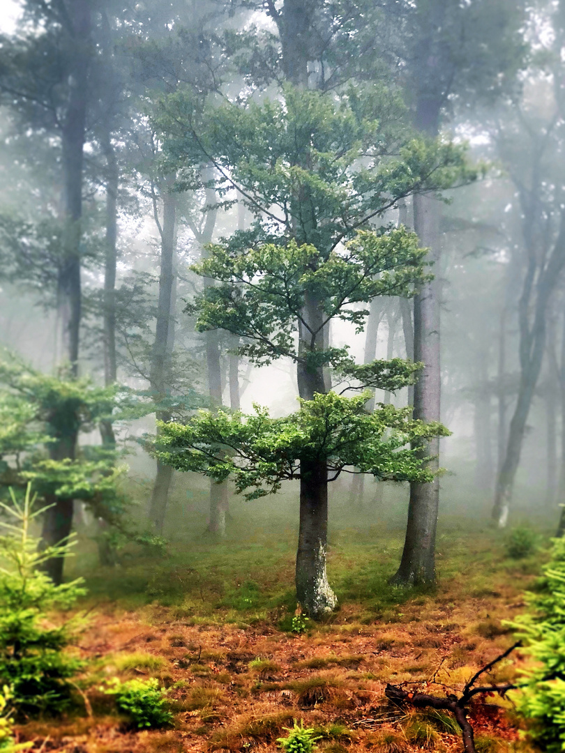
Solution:
[(545, 454), (547, 458), (547, 487), (545, 489), (545, 505), (552, 509), (557, 494), (557, 405), (560, 404), (559, 394), (559, 364), (556, 352), (555, 316), (553, 312), (548, 316), (547, 326), (547, 379), (545, 382)]

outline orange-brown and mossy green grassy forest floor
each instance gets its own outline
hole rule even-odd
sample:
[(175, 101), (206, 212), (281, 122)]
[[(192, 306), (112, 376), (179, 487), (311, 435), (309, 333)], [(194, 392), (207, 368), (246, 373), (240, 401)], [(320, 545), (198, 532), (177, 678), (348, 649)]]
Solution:
[[(387, 683), (445, 694), (514, 638), (504, 620), (524, 611), (543, 551), (512, 560), (494, 532), (439, 538), (432, 592), (390, 587), (402, 536), (377, 528), (334, 536), (329, 575), (341, 608), (291, 632), (292, 536), (194, 545), (160, 561), (131, 559), (87, 579), (87, 624), (73, 651), (85, 661), (77, 708), (17, 727), (33, 750), (68, 753), (276, 751), (293, 720), (320, 736), (321, 753), (461, 751), (457, 724), (438, 712), (390, 705)], [(386, 546), (385, 546), (386, 542)], [(519, 652), (490, 681), (509, 681)], [(136, 732), (101, 691), (105, 679), (157, 677), (175, 721)], [(470, 720), (479, 753), (531, 750), (512, 699), (478, 697)]]

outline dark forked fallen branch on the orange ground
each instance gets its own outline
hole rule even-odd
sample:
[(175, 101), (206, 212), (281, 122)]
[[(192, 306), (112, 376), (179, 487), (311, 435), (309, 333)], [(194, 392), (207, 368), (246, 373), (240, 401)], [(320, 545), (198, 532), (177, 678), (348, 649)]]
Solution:
[(521, 641), (518, 641), (506, 651), (504, 651), (503, 654), (500, 654), (498, 657), (496, 657), (496, 659), (493, 659), (482, 669), (479, 669), (479, 671), (476, 672), (475, 675), (473, 675), (472, 678), (466, 683), (460, 697), (457, 697), (457, 695), (453, 693), (448, 694), (444, 698), (430, 696), (426, 693), (407, 691), (400, 685), (387, 685), (384, 694), (389, 700), (393, 701), (394, 703), (411, 703), (412, 706), (416, 706), (420, 709), (431, 706), (432, 709), (437, 709), (438, 711), (451, 712), (454, 715), (457, 724), (459, 724), (461, 733), (463, 734), (463, 750), (465, 751), (465, 753), (477, 753), (477, 748), (475, 748), (475, 734), (473, 732), (471, 724), (469, 723), (469, 719), (467, 718), (467, 706), (469, 705), (469, 702), (475, 695), (478, 694), (498, 693), (503, 697), (505, 693), (513, 690), (518, 686), (512, 683), (505, 683), (499, 685), (485, 685), (481, 687), (475, 687), (475, 682), (478, 680), (478, 678), (481, 677), (481, 675), (484, 675), (485, 672), (489, 672), (490, 669), (493, 668), (493, 666), (505, 659), (507, 656), (509, 656), (509, 654), (512, 654), (512, 651), (515, 651), (515, 649), (521, 645)]

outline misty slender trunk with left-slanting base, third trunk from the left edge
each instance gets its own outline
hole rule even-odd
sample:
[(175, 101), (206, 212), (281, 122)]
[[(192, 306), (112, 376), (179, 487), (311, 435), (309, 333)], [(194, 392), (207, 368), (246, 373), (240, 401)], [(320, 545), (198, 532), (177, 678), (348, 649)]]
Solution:
[[(166, 181), (163, 183), (163, 223), (157, 224), (161, 236), (159, 300), (149, 375), (151, 392), (157, 401), (163, 401), (167, 395), (170, 395), (170, 359), (175, 343), (176, 310), (176, 194), (168, 190)], [(157, 212), (155, 218), (158, 221)], [(167, 410), (157, 410), (156, 418), (160, 421), (169, 421), (170, 413)], [(160, 535), (163, 533), (165, 524), (166, 505), (172, 480), (172, 466), (157, 460), (157, 475), (151, 493), (149, 519), (155, 531)]]

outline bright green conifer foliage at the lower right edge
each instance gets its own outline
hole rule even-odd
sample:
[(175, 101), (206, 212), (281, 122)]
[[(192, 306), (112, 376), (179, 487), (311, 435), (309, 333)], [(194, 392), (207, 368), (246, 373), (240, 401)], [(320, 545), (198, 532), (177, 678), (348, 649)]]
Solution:
[(547, 753), (565, 750), (565, 540), (556, 539), (530, 612), (515, 627), (535, 667), (518, 694), (518, 709), (532, 722), (530, 738)]

